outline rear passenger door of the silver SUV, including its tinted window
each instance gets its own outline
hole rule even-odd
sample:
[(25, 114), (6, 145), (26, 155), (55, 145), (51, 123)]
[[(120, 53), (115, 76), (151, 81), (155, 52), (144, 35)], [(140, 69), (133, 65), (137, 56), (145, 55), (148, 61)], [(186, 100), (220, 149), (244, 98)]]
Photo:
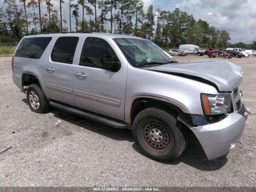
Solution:
[(78, 40), (79, 38), (74, 36), (59, 37), (44, 68), (44, 92), (47, 97), (73, 106), (73, 58)]

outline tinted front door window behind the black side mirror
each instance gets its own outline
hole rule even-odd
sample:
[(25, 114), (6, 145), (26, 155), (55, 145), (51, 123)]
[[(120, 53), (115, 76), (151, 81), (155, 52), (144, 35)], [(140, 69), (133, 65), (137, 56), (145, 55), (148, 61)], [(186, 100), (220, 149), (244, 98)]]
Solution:
[(86, 38), (79, 65), (106, 68), (101, 64), (101, 59), (104, 55), (113, 55), (116, 58), (116, 61), (118, 61), (116, 53), (105, 40), (99, 38)]

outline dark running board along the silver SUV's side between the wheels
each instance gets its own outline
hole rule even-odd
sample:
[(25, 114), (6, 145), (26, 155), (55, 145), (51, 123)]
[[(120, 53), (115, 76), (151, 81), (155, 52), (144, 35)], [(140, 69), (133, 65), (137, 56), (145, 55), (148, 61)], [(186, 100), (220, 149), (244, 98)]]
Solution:
[(70, 105), (62, 104), (60, 102), (56, 101), (50, 101), (50, 106), (88, 118), (90, 120), (94, 120), (103, 124), (106, 124), (108, 126), (112, 126), (115, 128), (127, 128), (126, 124), (120, 120), (115, 120), (113, 118), (109, 118), (106, 116), (98, 115), (92, 112), (88, 112), (86, 110), (82, 110)]

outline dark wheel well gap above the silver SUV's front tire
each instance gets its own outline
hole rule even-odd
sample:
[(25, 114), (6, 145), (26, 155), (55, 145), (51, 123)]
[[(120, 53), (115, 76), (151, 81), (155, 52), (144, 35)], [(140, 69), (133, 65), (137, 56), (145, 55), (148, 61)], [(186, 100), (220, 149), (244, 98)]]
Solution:
[(151, 107), (164, 110), (174, 116), (174, 118), (182, 120), (186, 126), (192, 126), (192, 119), (189, 114), (184, 113), (180, 108), (173, 104), (151, 98), (138, 98), (134, 100), (130, 111), (131, 124), (140, 111)]

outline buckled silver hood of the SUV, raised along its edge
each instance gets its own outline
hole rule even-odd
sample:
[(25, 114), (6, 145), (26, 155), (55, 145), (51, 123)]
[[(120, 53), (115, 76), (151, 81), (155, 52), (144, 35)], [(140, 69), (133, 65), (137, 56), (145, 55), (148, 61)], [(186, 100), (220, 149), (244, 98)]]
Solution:
[(165, 64), (145, 69), (198, 80), (222, 92), (233, 91), (243, 78), (240, 66), (224, 60)]

